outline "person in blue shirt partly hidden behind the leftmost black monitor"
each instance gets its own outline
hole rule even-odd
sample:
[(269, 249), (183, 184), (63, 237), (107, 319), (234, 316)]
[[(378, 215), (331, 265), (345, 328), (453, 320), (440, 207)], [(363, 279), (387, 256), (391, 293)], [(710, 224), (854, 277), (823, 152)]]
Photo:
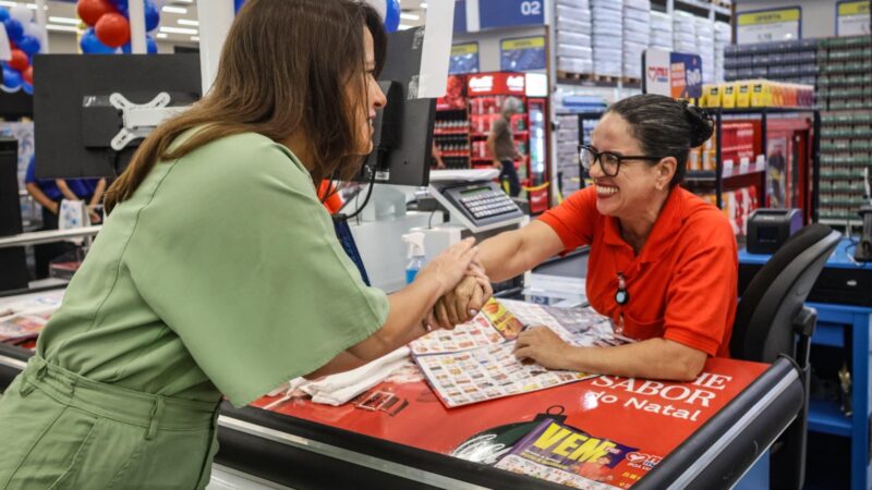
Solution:
[[(58, 213), (60, 212), (61, 201), (86, 200), (87, 209), (92, 223), (99, 223), (101, 215), (98, 205), (106, 191), (105, 179), (71, 179), (71, 180), (50, 180), (36, 179), (36, 168), (34, 159), (27, 164), (24, 176), (24, 186), (27, 193), (43, 208), (41, 231), (58, 229)], [(34, 246), (34, 261), (36, 266), (36, 279), (47, 278), (51, 260), (73, 249), (74, 246), (66, 242), (55, 242)]]

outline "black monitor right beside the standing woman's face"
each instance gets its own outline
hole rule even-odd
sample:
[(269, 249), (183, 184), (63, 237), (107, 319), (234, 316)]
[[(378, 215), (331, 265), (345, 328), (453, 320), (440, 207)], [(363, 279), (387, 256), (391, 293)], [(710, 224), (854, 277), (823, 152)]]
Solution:
[[(385, 68), (378, 77), (388, 103), (375, 122), (375, 150), (358, 180), (380, 184), (429, 183), (436, 99), (417, 98), (424, 28), (388, 35)], [(375, 175), (373, 175), (375, 171)]]

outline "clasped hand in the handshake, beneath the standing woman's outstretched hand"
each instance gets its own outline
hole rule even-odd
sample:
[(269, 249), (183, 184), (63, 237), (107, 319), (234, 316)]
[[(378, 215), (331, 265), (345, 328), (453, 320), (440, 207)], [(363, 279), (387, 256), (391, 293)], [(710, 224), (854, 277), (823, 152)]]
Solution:
[(493, 294), (491, 280), (480, 266), (473, 264), (457, 287), (440, 297), (434, 306), (436, 324), (451, 328), (472, 320)]

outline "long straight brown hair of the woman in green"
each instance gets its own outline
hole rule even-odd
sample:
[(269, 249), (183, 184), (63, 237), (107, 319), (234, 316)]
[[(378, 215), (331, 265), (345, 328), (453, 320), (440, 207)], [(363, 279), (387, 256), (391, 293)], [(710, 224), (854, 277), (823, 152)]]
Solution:
[[(314, 161), (304, 163), (316, 183), (334, 174), (350, 179), (361, 162), (353, 154), (367, 103), (364, 27), (373, 35), (378, 73), (387, 38), (378, 13), (364, 2), (246, 1), (225, 41), (211, 90), (142, 143), (107, 191), (107, 211), (130, 198), (158, 161), (247, 132), (277, 142), (302, 132), (314, 149)], [(360, 97), (346, 95), (349, 84)], [(170, 150), (192, 127), (202, 130)]]

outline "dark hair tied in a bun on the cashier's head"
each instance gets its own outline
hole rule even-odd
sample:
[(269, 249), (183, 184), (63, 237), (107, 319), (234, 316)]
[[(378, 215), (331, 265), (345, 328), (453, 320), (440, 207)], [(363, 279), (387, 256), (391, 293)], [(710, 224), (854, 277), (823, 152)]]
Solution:
[[(712, 137), (712, 118), (702, 109), (669, 97), (642, 94), (608, 108), (630, 125), (631, 135), (650, 157), (674, 157), (678, 161), (670, 186), (687, 173), (688, 154)], [(656, 162), (651, 162), (652, 166)]]

